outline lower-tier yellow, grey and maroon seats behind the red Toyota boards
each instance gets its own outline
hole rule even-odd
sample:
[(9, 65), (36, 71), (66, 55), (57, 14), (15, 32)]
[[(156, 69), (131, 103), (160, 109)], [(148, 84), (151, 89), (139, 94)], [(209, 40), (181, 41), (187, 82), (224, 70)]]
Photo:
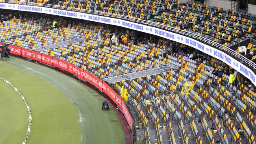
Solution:
[[(178, 4), (178, 2), (177, 2)], [(184, 61), (184, 55), (168, 55), (161, 56), (161, 48), (168, 42), (166, 39), (158, 39), (161, 46), (153, 47), (148, 44), (118, 44), (113, 45), (110, 42), (110, 31), (106, 30), (99, 38), (97, 33), (103, 26), (89, 24), (86, 26), (68, 26), (67, 28), (58, 28), (44, 31), (40, 26), (30, 20), (8, 20), (1, 23), (0, 34), (5, 35), (2, 39), (9, 39), (18, 46), (25, 48), (35, 48), (37, 46), (56, 42), (58, 40), (67, 40), (71, 36), (81, 37), (84, 35), (85, 41), (76, 42), (74, 44), (64, 45), (58, 48), (52, 48), (43, 52), (44, 54), (58, 57), (59, 59), (73, 63), (81, 68), (87, 69), (100, 78), (107, 76), (116, 76), (121, 72), (127, 73), (129, 70), (138, 70), (143, 66), (154, 63), (169, 62), (179, 66), (178, 70), (163, 72), (152, 76), (139, 77), (127, 81), (113, 83), (113, 87), (120, 92), (124, 86), (128, 90), (128, 97), (132, 100), (136, 112), (141, 116), (145, 133), (148, 133), (148, 120), (137, 105), (137, 101), (143, 102), (143, 106), (147, 109), (147, 113), (154, 118), (154, 124), (157, 131), (158, 141), (163, 142), (161, 127), (159, 120), (163, 120), (167, 124), (170, 140), (175, 144), (177, 138), (173, 129), (176, 124), (171, 123), (171, 114), (176, 120), (185, 118), (189, 121), (189, 127), (192, 127), (195, 133), (195, 139), (198, 143), (202, 142), (198, 134), (200, 127), (196, 126), (195, 117), (202, 119), (203, 130), (206, 133), (209, 142), (214, 143), (211, 130), (208, 127), (206, 118), (201, 118), (206, 114), (215, 124), (215, 129), (219, 131), (221, 140), (224, 143), (230, 142), (226, 135), (232, 135), (239, 142), (239, 135), (236, 134), (237, 126), (232, 125), (229, 117), (224, 119), (217, 118), (217, 115), (242, 114), (237, 116), (240, 127), (247, 135), (247, 141), (254, 141), (253, 129), (256, 126), (255, 119), (255, 103), (256, 94), (247, 86), (239, 83), (239, 86), (228, 83), (228, 76), (215, 76), (208, 72), (209, 65), (197, 63), (196, 60), (188, 59)], [(26, 36), (25, 36), (26, 35)], [(22, 37), (23, 36), (23, 37)], [(209, 63), (213, 63), (215, 67), (221, 66), (222, 62), (211, 57), (207, 58)], [(151, 67), (152, 68), (152, 67)], [(184, 92), (183, 85), (186, 81), (194, 81), (194, 89), (190, 94)], [(226, 86), (223, 85), (226, 83)], [(145, 97), (151, 98), (152, 105), (160, 105), (157, 110), (161, 113), (157, 115), (156, 109), (153, 110), (148, 104)], [(160, 101), (157, 100), (159, 97)], [(142, 99), (142, 100), (141, 100)], [(162, 104), (161, 104), (162, 103)], [(166, 110), (165, 110), (166, 108)], [(170, 115), (169, 115), (170, 114)], [(244, 118), (249, 122), (245, 122)], [(228, 125), (228, 131), (223, 131), (221, 121)], [(182, 131), (184, 142), (189, 142), (186, 131), (183, 131), (185, 123), (179, 123)], [(233, 127), (234, 126), (234, 127)], [(149, 141), (150, 138), (147, 137)], [(176, 140), (175, 140), (175, 138)]]

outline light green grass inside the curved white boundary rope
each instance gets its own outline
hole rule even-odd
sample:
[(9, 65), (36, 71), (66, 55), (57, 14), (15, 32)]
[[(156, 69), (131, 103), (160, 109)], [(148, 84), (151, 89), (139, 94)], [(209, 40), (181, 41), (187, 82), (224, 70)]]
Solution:
[(0, 144), (21, 144), (28, 129), (28, 109), (11, 85), (0, 80)]

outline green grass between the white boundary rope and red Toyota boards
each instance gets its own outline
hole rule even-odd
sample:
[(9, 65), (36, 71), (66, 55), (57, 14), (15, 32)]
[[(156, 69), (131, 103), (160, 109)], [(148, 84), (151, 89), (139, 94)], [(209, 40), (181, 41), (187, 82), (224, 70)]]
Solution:
[[(102, 111), (103, 98), (76, 79), (16, 57), (0, 59), (0, 76), (13, 83), (30, 106), (32, 128), (27, 144), (125, 143), (115, 111)], [(10, 120), (0, 117), (0, 144), (21, 143), (28, 127), (28, 112), (22, 99), (10, 86), (11, 91), (2, 91), (3, 84), (7, 85), (0, 83), (0, 100), (20, 102), (15, 106), (0, 106), (0, 111), (10, 117)], [(11, 95), (6, 98), (8, 93)], [(17, 98), (14, 99), (12, 95)], [(9, 110), (10, 107), (13, 111)], [(5, 127), (1, 127), (2, 122), (6, 123)], [(7, 130), (9, 126), (10, 131)], [(15, 137), (15, 140), (6, 141), (8, 136)]]

